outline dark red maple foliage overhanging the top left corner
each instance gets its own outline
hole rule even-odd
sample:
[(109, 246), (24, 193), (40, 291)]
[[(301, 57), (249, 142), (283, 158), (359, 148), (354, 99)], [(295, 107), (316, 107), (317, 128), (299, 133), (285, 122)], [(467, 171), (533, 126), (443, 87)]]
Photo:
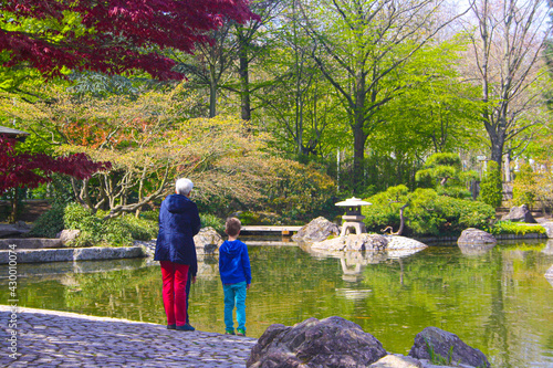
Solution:
[[(3, 66), (27, 64), (46, 77), (61, 76), (65, 66), (107, 74), (142, 70), (155, 78), (180, 80), (184, 75), (171, 71), (175, 62), (163, 50), (191, 53), (197, 42), (209, 42), (207, 31), (223, 20), (257, 18), (248, 6), (248, 0), (1, 1), (0, 52), (10, 52)], [(62, 27), (66, 12), (81, 20), (70, 31)], [(29, 19), (44, 24), (24, 31), (1, 27)]]

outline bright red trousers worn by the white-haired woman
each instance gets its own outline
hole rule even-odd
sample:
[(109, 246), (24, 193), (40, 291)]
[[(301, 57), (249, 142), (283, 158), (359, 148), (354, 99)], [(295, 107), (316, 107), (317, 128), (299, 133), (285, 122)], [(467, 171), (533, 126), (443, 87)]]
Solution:
[(164, 306), (167, 325), (186, 325), (186, 282), (188, 264), (160, 261), (164, 280)]

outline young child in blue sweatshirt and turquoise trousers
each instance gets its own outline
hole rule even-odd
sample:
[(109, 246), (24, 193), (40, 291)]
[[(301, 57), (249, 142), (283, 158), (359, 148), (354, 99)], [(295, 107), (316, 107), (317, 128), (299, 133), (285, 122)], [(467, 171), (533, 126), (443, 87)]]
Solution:
[(251, 284), (250, 257), (248, 246), (238, 240), (240, 220), (227, 220), (225, 232), (229, 240), (219, 248), (219, 273), (225, 292), (225, 326), (227, 335), (234, 335), (232, 311), (237, 306), (237, 335), (246, 336), (246, 291)]

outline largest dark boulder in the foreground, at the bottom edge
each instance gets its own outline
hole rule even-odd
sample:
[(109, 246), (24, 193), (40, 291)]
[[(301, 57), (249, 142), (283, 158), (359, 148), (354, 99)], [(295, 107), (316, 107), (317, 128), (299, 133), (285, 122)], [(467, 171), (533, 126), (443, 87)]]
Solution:
[(373, 335), (342, 317), (271, 325), (251, 349), (247, 367), (368, 367), (386, 356)]

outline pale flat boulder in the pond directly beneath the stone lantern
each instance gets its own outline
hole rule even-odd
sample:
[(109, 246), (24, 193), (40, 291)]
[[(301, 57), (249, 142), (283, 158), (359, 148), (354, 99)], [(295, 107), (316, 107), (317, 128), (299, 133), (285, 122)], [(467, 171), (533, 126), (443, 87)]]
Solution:
[(388, 240), (378, 234), (348, 234), (334, 239), (315, 242), (311, 245), (313, 250), (323, 251), (385, 251)]

